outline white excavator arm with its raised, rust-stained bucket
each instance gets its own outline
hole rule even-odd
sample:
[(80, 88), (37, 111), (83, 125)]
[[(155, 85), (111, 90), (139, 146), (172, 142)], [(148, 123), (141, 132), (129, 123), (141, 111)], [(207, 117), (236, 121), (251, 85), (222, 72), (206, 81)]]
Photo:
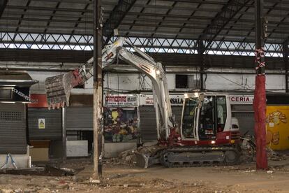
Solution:
[[(124, 43), (128, 43), (126, 38), (118, 38), (117, 41), (106, 45), (102, 50), (103, 68), (112, 64), (117, 57), (124, 62), (131, 64), (149, 77), (152, 83), (154, 95), (154, 108), (156, 109), (156, 125), (158, 139), (168, 139), (170, 128), (175, 127), (172, 117), (172, 108), (168, 93), (168, 82), (163, 66), (155, 62), (153, 58), (145, 54), (135, 46), (131, 45), (138, 55), (124, 48)], [(59, 108), (69, 106), (69, 96), (71, 89), (77, 85), (84, 84), (93, 76), (94, 59), (89, 59), (86, 64), (60, 76), (54, 76), (45, 80), (45, 90), (47, 94), (47, 104), (49, 108)]]

